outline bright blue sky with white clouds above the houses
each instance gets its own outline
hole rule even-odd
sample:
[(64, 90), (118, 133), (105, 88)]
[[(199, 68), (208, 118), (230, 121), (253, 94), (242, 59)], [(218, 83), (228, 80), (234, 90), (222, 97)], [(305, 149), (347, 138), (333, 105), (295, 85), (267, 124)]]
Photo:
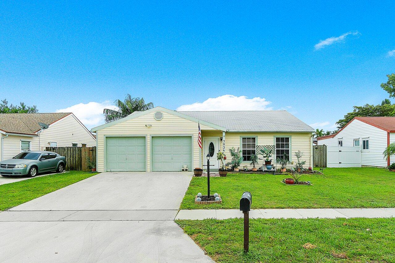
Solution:
[(88, 128), (130, 93), (169, 109), (287, 109), (333, 130), (388, 97), (392, 1), (165, 2), (2, 1), (0, 98)]

